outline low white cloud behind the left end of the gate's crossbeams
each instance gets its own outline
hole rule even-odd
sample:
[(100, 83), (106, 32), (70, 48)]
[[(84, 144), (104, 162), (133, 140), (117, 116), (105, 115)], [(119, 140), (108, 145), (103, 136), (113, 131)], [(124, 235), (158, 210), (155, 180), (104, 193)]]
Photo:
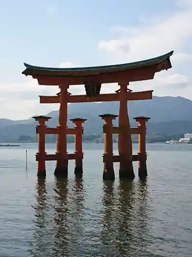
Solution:
[[(70, 86), (68, 91), (73, 95), (85, 93), (84, 85)], [(58, 86), (38, 85), (31, 77), (24, 83), (0, 83), (0, 117), (17, 120), (28, 119), (35, 113), (45, 115), (58, 109), (59, 104), (40, 104), (38, 96), (55, 96), (58, 92)]]

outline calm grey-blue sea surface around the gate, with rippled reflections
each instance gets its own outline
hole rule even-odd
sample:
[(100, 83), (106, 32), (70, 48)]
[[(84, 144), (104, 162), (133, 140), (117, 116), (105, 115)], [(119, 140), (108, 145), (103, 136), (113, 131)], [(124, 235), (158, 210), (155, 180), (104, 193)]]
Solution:
[(115, 182), (102, 181), (103, 147), (83, 145), (81, 180), (73, 161), (68, 179), (56, 180), (50, 161), (37, 180), (36, 144), (0, 148), (1, 257), (192, 255), (192, 145), (148, 144), (148, 178), (135, 163), (133, 182), (119, 181), (117, 163)]

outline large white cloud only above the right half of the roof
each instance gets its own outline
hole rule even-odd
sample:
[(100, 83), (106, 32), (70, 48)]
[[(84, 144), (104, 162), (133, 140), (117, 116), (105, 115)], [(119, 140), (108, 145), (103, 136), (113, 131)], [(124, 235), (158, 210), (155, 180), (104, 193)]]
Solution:
[(114, 53), (117, 62), (131, 62), (153, 58), (172, 49), (178, 52), (192, 38), (192, 8), (148, 21), (145, 27), (132, 28), (129, 35), (122, 33), (118, 39), (100, 41), (99, 49)]

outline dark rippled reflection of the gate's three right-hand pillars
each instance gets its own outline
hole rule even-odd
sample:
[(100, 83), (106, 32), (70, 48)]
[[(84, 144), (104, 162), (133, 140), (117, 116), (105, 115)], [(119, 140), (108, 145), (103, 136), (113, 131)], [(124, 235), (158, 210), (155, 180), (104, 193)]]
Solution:
[(114, 182), (103, 182), (103, 256), (144, 256), (140, 250), (147, 233), (146, 181), (139, 181), (136, 189), (133, 181), (120, 180), (114, 191)]

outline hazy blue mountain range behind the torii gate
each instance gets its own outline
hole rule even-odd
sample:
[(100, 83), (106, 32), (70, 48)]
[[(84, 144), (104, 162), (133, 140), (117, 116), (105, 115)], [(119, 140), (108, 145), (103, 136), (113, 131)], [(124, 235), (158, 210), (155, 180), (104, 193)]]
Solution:
[[(151, 117), (147, 123), (147, 134), (164, 135), (184, 134), (192, 131), (192, 101), (182, 97), (153, 97), (153, 100), (130, 101), (128, 103), (130, 122), (136, 116)], [(70, 119), (80, 117), (87, 119), (84, 134), (102, 134), (103, 121), (98, 115), (112, 113), (118, 115), (119, 102), (72, 103), (68, 105), (68, 126), (73, 127)], [(50, 127), (58, 124), (58, 111), (47, 114), (52, 117), (47, 123)], [(114, 125), (118, 124), (118, 118)], [(28, 120), (0, 119), (0, 137), (18, 138), (20, 135), (35, 135), (36, 122)]]

